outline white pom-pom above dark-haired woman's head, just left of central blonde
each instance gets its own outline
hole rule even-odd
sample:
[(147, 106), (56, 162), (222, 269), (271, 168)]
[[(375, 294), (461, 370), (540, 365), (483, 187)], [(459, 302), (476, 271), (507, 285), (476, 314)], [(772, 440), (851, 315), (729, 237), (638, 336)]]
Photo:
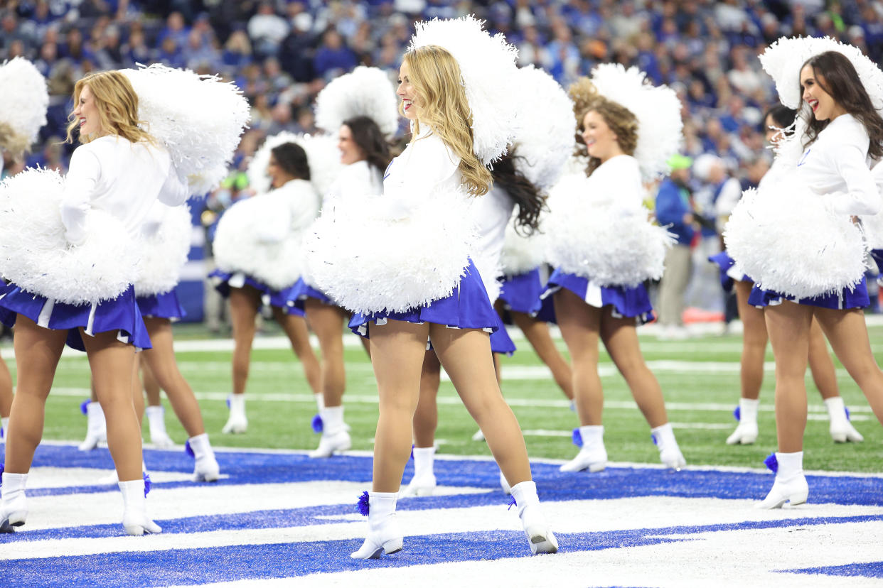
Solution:
[(385, 71), (359, 65), (335, 78), (316, 96), (316, 126), (336, 135), (343, 121), (367, 116), (386, 138), (398, 130), (396, 88)]

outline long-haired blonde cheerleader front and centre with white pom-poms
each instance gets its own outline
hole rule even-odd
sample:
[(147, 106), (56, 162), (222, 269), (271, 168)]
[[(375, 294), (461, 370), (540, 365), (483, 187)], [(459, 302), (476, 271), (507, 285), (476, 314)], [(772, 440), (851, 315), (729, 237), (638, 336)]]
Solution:
[[(347, 205), (346, 218), (323, 212), (308, 242), (317, 285), (358, 311), (351, 328), (370, 336), (380, 396), (373, 488), (359, 500), (368, 536), (353, 558), (403, 547), (396, 500), (427, 341), (512, 483), (532, 553), (557, 550), (524, 437), (494, 375), (488, 333), (499, 319), (469, 257), (472, 230), (464, 225), (464, 193), (486, 197), (486, 164), (511, 138), (514, 71), (513, 48), (502, 35), (482, 31), (479, 21), (418, 23), (397, 89), (413, 125), (411, 142), (390, 163), (382, 197)], [(358, 227), (362, 232), (353, 234)], [(353, 259), (357, 251), (361, 257)]]

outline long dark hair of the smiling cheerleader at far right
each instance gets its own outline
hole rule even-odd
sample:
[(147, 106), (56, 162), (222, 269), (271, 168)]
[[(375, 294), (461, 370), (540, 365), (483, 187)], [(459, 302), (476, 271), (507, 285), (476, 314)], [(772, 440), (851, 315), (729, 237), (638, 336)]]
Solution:
[[(883, 157), (883, 118), (880, 118), (877, 110), (874, 109), (871, 97), (864, 89), (864, 84), (858, 78), (856, 68), (849, 58), (837, 51), (826, 51), (807, 59), (800, 68), (801, 71), (807, 65), (812, 68), (816, 84), (830, 94), (834, 102), (848, 114), (855, 116), (856, 120), (864, 125), (864, 130), (867, 130), (868, 137), (871, 138), (868, 155), (874, 159)], [(800, 86), (800, 94), (801, 96), (804, 94), (803, 84)], [(804, 147), (815, 141), (819, 133), (831, 122), (816, 120), (806, 102), (800, 105), (800, 116), (806, 121), (804, 137), (807, 140), (804, 141)]]

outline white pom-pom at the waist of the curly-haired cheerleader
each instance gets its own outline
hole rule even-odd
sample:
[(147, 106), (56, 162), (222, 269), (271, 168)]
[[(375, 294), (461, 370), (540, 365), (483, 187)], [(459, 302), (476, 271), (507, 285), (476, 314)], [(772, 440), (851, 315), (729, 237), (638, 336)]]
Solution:
[(635, 287), (659, 279), (673, 236), (653, 225), (643, 206), (617, 205), (620, 188), (605, 183), (594, 175), (567, 175), (552, 189), (552, 212), (544, 224), (548, 262), (600, 286)]

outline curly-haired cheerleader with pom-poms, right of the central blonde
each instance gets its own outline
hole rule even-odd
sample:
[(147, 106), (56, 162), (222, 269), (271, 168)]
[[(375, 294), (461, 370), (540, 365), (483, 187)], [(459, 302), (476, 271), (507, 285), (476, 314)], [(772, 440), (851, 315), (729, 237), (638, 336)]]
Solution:
[(680, 103), (668, 88), (645, 84), (637, 68), (612, 64), (571, 86), (570, 96), (589, 157), (588, 179), (559, 184), (550, 196), (547, 230), (556, 269), (543, 293), (554, 296), (570, 351), (580, 421), (574, 436), (582, 449), (561, 470), (599, 472), (607, 466), (599, 338), (649, 423), (660, 460), (680, 469), (686, 462), (636, 330), (653, 317), (643, 281), (659, 277), (669, 244), (668, 234), (647, 220), (641, 178), (666, 169), (676, 153)]

